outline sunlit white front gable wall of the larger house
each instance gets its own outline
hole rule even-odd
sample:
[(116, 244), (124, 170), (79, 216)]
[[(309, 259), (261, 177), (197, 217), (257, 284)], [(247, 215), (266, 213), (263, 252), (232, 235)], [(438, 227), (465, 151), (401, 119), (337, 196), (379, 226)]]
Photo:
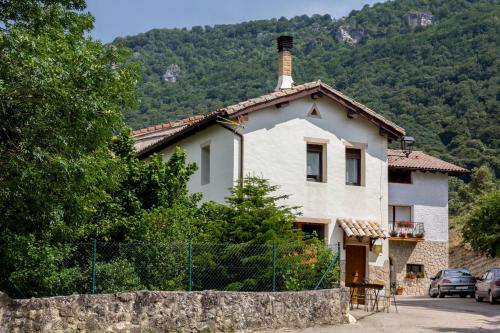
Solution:
[[(316, 103), (321, 118), (308, 117)], [(387, 140), (379, 128), (362, 118), (349, 119), (339, 104), (323, 97), (305, 97), (286, 107), (249, 114), (244, 129), (244, 174), (267, 178), (291, 194), (288, 204), (301, 206), (304, 217), (329, 219), (328, 242), (342, 241), (339, 217), (378, 221), (387, 228)], [(326, 183), (306, 180), (306, 145), (310, 139), (326, 141)], [(313, 142), (313, 141), (311, 141)], [(345, 184), (345, 148), (363, 148), (364, 186)], [(356, 148), (357, 148), (356, 147)], [(370, 264), (382, 265), (383, 254), (370, 252)], [(344, 253), (342, 253), (345, 258)]]

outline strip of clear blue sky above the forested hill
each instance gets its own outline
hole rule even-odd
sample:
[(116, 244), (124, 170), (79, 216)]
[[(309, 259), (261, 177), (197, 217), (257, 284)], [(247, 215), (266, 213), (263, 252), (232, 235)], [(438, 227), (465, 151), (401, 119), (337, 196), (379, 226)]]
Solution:
[(190, 28), (251, 20), (330, 14), (383, 0), (87, 0), (96, 22), (93, 37), (105, 43), (155, 28)]

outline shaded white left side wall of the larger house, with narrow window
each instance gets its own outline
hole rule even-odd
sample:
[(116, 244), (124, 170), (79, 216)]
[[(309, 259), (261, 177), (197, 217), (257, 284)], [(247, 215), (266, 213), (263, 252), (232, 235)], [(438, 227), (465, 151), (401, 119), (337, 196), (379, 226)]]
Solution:
[[(201, 184), (201, 147), (210, 144), (210, 182)], [(188, 183), (191, 192), (203, 193), (203, 201), (214, 200), (224, 203), (228, 189), (238, 179), (239, 138), (220, 125), (213, 125), (200, 131), (175, 145), (167, 147), (161, 154), (168, 159), (175, 147), (187, 151), (187, 162), (196, 163), (198, 170)]]

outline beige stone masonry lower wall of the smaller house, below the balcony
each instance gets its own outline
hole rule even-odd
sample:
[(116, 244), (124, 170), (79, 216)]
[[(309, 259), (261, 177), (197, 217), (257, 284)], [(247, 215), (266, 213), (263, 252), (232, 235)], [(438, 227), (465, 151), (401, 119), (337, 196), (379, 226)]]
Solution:
[[(404, 288), (403, 295), (427, 295), (430, 278), (441, 269), (448, 268), (448, 242), (389, 241), (389, 257), (396, 283)], [(406, 264), (424, 265), (424, 277), (408, 279)]]

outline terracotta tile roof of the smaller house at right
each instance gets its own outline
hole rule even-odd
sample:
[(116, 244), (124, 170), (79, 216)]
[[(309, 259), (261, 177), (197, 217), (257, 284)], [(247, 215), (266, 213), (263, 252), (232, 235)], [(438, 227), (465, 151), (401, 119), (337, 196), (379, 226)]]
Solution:
[(427, 155), (421, 151), (414, 151), (410, 156), (406, 155), (401, 150), (388, 149), (387, 159), (389, 168), (402, 168), (412, 170), (427, 170), (449, 173), (466, 173), (467, 169), (459, 167), (455, 164), (445, 162), (439, 158)]

